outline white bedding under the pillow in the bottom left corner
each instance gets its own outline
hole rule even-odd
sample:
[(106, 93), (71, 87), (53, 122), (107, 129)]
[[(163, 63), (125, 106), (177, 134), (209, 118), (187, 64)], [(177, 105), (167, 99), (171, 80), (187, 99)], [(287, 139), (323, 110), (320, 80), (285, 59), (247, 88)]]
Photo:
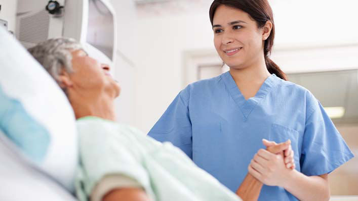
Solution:
[(0, 200), (74, 201), (76, 198), (47, 174), (29, 166), (9, 147), (0, 131)]

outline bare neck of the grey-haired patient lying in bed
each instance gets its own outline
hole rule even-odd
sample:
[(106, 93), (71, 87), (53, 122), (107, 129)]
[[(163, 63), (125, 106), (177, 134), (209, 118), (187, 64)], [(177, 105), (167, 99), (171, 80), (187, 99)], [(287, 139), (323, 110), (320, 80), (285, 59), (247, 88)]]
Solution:
[(115, 121), (114, 97), (103, 94), (101, 96), (70, 95), (70, 103), (76, 119), (95, 116)]

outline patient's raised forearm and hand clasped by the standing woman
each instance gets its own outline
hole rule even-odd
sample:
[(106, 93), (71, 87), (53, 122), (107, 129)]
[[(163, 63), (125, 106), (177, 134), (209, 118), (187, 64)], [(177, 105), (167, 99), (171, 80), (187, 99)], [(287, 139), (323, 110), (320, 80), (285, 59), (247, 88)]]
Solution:
[[(273, 154), (279, 154), (283, 152), (291, 144), (291, 141), (280, 143), (277, 145), (267, 147), (267, 150)], [(249, 166), (250, 168), (250, 166)], [(263, 183), (257, 180), (254, 176), (248, 173), (241, 183), (240, 187), (236, 190), (236, 194), (240, 196), (244, 201), (257, 200), (260, 195)]]

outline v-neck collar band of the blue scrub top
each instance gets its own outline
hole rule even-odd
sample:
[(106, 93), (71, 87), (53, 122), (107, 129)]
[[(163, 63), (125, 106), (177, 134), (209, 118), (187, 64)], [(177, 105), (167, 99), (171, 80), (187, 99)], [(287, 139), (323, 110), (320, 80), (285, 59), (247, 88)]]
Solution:
[(257, 106), (257, 104), (266, 97), (272, 87), (280, 80), (280, 78), (278, 78), (275, 74), (270, 75), (261, 85), (256, 95), (246, 100), (240, 89), (238, 89), (229, 71), (223, 73), (221, 77), (224, 80), (225, 86), (231, 97), (243, 113), (245, 121), (251, 114), (252, 110)]

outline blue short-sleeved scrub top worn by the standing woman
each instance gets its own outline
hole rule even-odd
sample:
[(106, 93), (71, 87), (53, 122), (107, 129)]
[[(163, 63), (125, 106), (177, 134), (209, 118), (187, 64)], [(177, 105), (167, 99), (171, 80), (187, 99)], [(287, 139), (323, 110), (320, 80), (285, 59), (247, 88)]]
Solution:
[[(201, 80), (180, 91), (149, 131), (178, 146), (233, 192), (248, 173), (262, 139), (292, 142), (296, 169), (323, 175), (353, 158), (317, 99), (302, 86), (269, 76), (245, 100), (231, 74)], [(264, 185), (259, 200), (298, 200), (282, 187)]]

